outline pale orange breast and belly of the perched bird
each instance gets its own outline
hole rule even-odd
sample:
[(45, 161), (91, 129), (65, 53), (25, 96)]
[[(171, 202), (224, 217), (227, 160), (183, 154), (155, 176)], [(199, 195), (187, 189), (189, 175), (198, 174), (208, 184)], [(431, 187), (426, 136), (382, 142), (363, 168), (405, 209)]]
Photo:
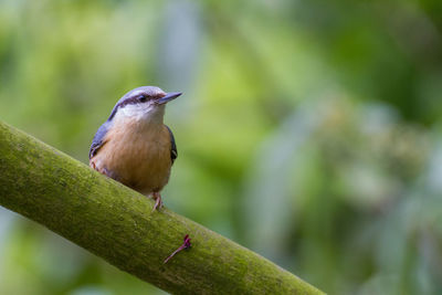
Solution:
[(172, 162), (165, 125), (135, 120), (116, 124), (105, 141), (92, 159), (97, 169), (105, 168), (110, 177), (145, 194), (166, 186)]

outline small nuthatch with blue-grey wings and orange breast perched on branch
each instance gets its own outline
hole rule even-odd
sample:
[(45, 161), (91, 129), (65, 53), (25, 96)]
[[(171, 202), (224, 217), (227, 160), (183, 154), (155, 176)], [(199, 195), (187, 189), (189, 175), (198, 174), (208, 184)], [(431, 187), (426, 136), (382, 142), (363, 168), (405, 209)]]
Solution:
[(96, 131), (90, 148), (90, 167), (155, 200), (167, 185), (178, 157), (170, 128), (164, 124), (166, 104), (182, 93), (141, 86), (126, 93)]

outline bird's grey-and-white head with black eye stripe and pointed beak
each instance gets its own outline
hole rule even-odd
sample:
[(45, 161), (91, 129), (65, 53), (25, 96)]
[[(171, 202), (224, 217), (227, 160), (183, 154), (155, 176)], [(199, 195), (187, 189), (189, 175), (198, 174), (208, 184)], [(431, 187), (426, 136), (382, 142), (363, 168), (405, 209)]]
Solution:
[(162, 123), (166, 104), (180, 95), (179, 92), (166, 93), (155, 86), (131, 89), (114, 106), (108, 120), (133, 118)]

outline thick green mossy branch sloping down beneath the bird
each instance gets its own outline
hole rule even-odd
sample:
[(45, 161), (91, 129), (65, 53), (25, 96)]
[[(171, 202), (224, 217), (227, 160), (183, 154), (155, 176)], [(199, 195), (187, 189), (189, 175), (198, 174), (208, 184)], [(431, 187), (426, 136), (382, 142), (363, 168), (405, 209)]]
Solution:
[[(295, 275), (0, 122), (0, 204), (173, 294), (322, 294)], [(164, 264), (190, 234), (192, 247)]]

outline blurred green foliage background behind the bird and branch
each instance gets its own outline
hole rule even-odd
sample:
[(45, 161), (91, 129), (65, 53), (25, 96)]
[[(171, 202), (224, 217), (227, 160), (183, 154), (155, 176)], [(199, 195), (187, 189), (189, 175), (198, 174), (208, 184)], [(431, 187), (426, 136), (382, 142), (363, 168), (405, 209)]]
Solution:
[[(87, 162), (183, 92), (172, 210), (330, 294), (442, 294), (439, 0), (0, 0), (0, 118)], [(0, 209), (0, 294), (164, 294)]]

